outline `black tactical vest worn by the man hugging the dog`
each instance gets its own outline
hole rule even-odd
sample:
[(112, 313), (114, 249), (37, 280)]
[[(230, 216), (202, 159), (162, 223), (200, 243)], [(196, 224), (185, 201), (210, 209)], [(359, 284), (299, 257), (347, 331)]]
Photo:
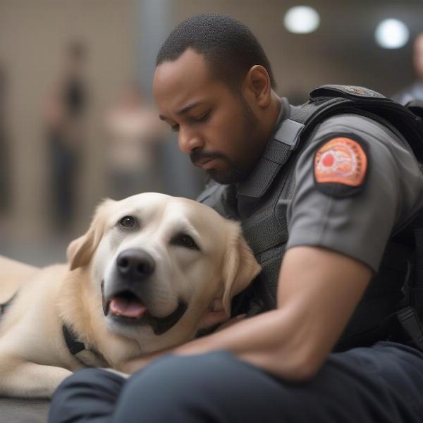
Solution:
[[(198, 198), (223, 216), (240, 221), (247, 243), (262, 264), (263, 270), (250, 289), (235, 298), (233, 314), (252, 315), (276, 307), (278, 274), (288, 240), (286, 209), (295, 188), (295, 164), (320, 123), (337, 114), (367, 116), (404, 137), (417, 159), (423, 161), (423, 109), (418, 104), (410, 104), (407, 109), (366, 88), (325, 85), (313, 90), (302, 106), (286, 106), (290, 116), (276, 128), (247, 180), (238, 185), (213, 184)], [(418, 221), (416, 216), (415, 222)], [(421, 228), (423, 223), (405, 222), (392, 235), (379, 272), (369, 283), (335, 350), (388, 338), (406, 342), (403, 326), (412, 338), (410, 343), (423, 350)], [(420, 259), (416, 260), (416, 255)]]

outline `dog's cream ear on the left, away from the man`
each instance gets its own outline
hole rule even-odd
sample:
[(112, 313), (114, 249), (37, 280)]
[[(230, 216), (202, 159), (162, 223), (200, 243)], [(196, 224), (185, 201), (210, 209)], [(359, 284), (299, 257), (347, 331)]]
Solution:
[(109, 215), (108, 211), (112, 204), (114, 204), (114, 201), (109, 199), (99, 204), (88, 231), (69, 244), (66, 255), (71, 270), (90, 263), (91, 257), (106, 230), (106, 216)]

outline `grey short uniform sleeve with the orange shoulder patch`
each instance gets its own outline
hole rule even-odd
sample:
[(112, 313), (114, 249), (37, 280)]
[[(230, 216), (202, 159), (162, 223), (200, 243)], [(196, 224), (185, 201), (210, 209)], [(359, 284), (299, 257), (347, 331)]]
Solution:
[[(343, 147), (353, 148), (350, 161)], [(334, 163), (341, 173), (322, 171)], [(298, 159), (295, 178), (287, 249), (328, 248), (375, 272), (393, 229), (422, 207), (415, 157), (390, 130), (362, 116), (325, 121)]]

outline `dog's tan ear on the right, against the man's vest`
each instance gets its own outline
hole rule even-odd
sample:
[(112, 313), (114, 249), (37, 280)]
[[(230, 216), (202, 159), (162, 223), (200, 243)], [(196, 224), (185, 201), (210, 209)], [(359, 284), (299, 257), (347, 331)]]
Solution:
[(231, 315), (232, 298), (250, 285), (260, 273), (260, 266), (245, 241), (239, 223), (231, 222), (223, 264), (223, 308)]

